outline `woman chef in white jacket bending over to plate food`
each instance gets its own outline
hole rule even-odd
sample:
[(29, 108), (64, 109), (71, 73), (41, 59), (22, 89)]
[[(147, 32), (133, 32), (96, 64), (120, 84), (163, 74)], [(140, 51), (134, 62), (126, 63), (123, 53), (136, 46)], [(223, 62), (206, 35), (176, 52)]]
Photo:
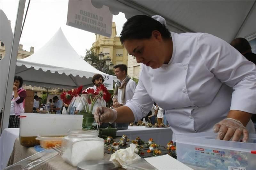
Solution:
[(207, 33), (169, 32), (164, 18), (144, 15), (127, 20), (120, 41), (142, 63), (139, 83), (126, 105), (102, 109), (102, 122), (136, 122), (156, 101), (175, 135), (213, 129), (220, 140), (243, 135), (246, 142), (255, 133), (255, 64), (227, 42)]

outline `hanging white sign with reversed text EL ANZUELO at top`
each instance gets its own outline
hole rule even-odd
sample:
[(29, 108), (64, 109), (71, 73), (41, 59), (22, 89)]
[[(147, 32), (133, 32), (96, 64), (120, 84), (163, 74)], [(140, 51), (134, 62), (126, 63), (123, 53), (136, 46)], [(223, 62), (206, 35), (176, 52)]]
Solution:
[(91, 0), (69, 0), (67, 25), (110, 37), (112, 14), (107, 6), (95, 8)]

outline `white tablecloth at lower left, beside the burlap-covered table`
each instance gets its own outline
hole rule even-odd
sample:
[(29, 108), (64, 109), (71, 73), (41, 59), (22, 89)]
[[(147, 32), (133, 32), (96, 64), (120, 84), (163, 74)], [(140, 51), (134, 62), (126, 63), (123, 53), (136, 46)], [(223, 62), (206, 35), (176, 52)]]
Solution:
[(15, 139), (20, 134), (20, 128), (4, 129), (0, 137), (0, 169), (4, 169), (11, 156)]

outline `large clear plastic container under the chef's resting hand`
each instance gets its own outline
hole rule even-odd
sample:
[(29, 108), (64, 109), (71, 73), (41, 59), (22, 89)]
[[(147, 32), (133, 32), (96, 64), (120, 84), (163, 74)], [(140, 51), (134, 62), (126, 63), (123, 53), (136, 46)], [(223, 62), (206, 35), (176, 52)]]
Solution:
[(255, 169), (256, 134), (249, 134), (247, 143), (216, 140), (216, 136), (213, 132), (177, 135), (177, 159), (206, 169)]

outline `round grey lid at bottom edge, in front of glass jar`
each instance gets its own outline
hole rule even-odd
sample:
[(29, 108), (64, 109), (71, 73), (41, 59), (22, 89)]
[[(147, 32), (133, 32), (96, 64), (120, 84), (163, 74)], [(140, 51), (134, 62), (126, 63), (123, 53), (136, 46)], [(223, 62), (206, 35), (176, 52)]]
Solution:
[(109, 160), (88, 160), (80, 162), (77, 170), (118, 170), (118, 167)]

